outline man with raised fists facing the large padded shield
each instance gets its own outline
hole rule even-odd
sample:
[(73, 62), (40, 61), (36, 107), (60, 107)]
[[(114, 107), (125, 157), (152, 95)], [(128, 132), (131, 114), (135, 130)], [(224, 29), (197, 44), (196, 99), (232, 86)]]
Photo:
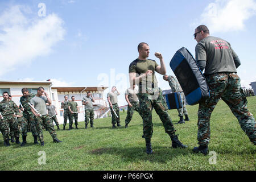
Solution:
[(140, 43), (138, 45), (139, 57), (129, 66), (130, 85), (139, 85), (138, 98), (143, 117), (143, 137), (146, 140), (146, 152), (147, 154), (152, 154), (153, 107), (163, 123), (164, 130), (170, 135), (172, 147), (187, 148), (188, 146), (182, 144), (177, 138), (177, 135), (175, 135), (176, 130), (168, 114), (167, 104), (164, 101), (162, 90), (158, 87), (158, 82), (155, 77), (155, 71), (161, 75), (166, 74), (162, 54), (155, 53), (155, 56), (160, 60), (160, 65), (158, 65), (156, 61), (147, 59), (150, 52), (149, 50), (150, 48), (147, 43)]

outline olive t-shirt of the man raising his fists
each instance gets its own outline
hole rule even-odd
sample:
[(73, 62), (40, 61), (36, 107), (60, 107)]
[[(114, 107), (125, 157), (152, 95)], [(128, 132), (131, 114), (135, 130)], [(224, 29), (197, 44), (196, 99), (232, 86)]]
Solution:
[(139, 89), (141, 90), (142, 87), (147, 88), (148, 86), (152, 87), (158, 87), (158, 81), (155, 77), (155, 68), (158, 67), (158, 64), (155, 60), (146, 59), (146, 60), (140, 60), (136, 59), (133, 62), (131, 62), (129, 66), (129, 73), (137, 73), (137, 76), (142, 75), (143, 73), (146, 73), (148, 70), (152, 71), (152, 76), (150, 77), (144, 77), (143, 79), (139, 80), (139, 83), (135, 83), (139, 85)]

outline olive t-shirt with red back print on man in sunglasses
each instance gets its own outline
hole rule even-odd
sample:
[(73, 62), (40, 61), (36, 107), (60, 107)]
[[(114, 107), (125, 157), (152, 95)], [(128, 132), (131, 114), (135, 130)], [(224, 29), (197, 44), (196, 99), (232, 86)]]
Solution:
[(204, 60), (205, 75), (218, 72), (237, 72), (234, 58), (238, 57), (230, 44), (221, 38), (208, 36), (196, 45), (196, 61)]

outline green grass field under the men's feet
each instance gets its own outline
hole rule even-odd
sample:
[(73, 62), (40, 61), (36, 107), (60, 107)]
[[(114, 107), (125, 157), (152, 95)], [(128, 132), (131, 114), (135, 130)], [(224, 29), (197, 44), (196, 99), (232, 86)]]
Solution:
[[(255, 116), (256, 97), (247, 97), (247, 100)], [(94, 129), (85, 130), (84, 122), (79, 122), (79, 130), (56, 130), (57, 138), (63, 143), (53, 143), (44, 131), (44, 147), (32, 144), (31, 133), (28, 133), (26, 146), (4, 147), (1, 135), (0, 170), (255, 170), (256, 148), (223, 101), (214, 109), (210, 122), (209, 151), (217, 153), (217, 164), (209, 164), (209, 155), (192, 153), (193, 147), (198, 146), (197, 109), (198, 105), (187, 106), (191, 121), (175, 125), (176, 134), (188, 145), (187, 149), (171, 147), (171, 139), (153, 111), (154, 154), (147, 155), (141, 137), (142, 118), (135, 112), (125, 129), (126, 113), (121, 111), (120, 128), (112, 129), (111, 118), (95, 119)], [(169, 113), (172, 122), (179, 121), (177, 110), (169, 110)], [(45, 165), (38, 164), (39, 151), (46, 152)]]

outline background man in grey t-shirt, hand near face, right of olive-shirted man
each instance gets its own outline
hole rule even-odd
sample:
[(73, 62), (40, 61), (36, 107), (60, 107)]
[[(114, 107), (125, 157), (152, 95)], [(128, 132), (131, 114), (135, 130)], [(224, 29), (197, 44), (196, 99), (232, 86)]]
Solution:
[(84, 105), (85, 110), (85, 129), (87, 129), (87, 125), (89, 123), (90, 119), (90, 127), (93, 127), (93, 119), (94, 119), (94, 109), (93, 109), (93, 103), (95, 102), (92, 94), (87, 92), (86, 96), (82, 98), (82, 105)]

